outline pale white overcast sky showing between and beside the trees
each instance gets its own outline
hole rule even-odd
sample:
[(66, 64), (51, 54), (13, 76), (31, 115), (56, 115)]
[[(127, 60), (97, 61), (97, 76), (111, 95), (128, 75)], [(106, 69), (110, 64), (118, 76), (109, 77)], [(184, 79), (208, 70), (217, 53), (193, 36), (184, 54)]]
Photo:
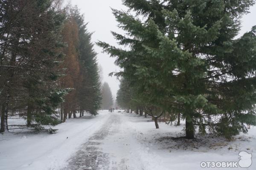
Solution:
[[(110, 32), (123, 32), (117, 28), (117, 22), (115, 17), (113, 17), (111, 8), (126, 10), (127, 8), (122, 5), (122, 0), (70, 0), (70, 2), (79, 7), (81, 13), (84, 14), (85, 22), (89, 22), (88, 30), (94, 32), (92, 36), (93, 42), (101, 40), (111, 45), (116, 45), (116, 40), (113, 39)], [(253, 25), (256, 25), (256, 5), (251, 7), (250, 14), (242, 18), (241, 35), (244, 32), (250, 31)], [(94, 48), (98, 53), (99, 64), (103, 68), (103, 81), (108, 82), (115, 99), (116, 92), (119, 89), (119, 81), (115, 77), (109, 77), (108, 74), (119, 71), (119, 67), (115, 66), (114, 58), (110, 58), (108, 54), (102, 53), (100, 47), (95, 45)]]

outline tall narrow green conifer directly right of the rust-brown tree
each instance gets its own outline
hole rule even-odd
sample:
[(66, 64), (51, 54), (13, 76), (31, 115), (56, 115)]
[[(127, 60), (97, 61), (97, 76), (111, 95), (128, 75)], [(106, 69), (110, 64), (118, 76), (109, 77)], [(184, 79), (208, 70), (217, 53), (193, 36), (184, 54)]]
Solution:
[(79, 107), (97, 115), (101, 104), (101, 82), (97, 53), (91, 42), (92, 33), (87, 31), (84, 15), (80, 14), (77, 6), (70, 12), (79, 26), (79, 62), (82, 82), (79, 89)]

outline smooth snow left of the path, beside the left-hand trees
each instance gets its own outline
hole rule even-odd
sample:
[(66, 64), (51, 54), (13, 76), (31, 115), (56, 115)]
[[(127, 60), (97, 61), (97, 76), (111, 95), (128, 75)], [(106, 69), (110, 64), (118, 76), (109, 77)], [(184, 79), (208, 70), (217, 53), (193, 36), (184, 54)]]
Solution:
[(0, 135), (0, 170), (58, 170), (109, 116), (107, 112), (100, 112), (96, 117), (68, 119), (55, 127), (58, 132), (51, 135)]

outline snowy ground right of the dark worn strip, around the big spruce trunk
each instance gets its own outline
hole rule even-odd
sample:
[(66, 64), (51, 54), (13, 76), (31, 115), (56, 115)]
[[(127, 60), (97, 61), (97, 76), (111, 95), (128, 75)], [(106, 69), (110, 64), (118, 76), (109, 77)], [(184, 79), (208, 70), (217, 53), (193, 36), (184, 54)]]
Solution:
[(160, 129), (155, 129), (151, 118), (130, 113), (119, 117), (117, 132), (103, 139), (100, 146), (101, 152), (110, 155), (113, 170), (202, 170), (202, 161), (239, 161), (242, 150), (255, 153), (249, 169), (256, 169), (255, 127), (233, 141), (212, 135), (175, 140), (172, 137), (185, 135), (184, 124), (175, 127), (160, 123)]

